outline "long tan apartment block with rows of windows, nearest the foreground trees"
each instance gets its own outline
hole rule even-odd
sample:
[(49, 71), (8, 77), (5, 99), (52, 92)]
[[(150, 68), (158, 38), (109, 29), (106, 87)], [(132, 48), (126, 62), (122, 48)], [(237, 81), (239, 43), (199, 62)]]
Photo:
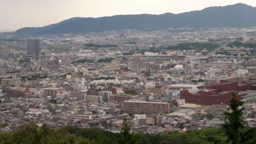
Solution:
[(169, 103), (147, 102), (138, 100), (124, 101), (123, 110), (132, 114), (155, 115), (159, 113), (170, 113)]

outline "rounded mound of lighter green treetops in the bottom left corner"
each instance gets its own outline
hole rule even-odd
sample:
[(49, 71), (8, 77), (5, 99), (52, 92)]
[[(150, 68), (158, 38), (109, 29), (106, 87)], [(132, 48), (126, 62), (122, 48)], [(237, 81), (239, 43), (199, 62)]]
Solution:
[(19, 130), (0, 133), (0, 143), (13, 144), (34, 144), (34, 143), (76, 143), (76, 144), (90, 144), (93, 143), (89, 139), (81, 136), (69, 134), (65, 128), (54, 130), (43, 124), (38, 128), (36, 122), (30, 124), (22, 124)]

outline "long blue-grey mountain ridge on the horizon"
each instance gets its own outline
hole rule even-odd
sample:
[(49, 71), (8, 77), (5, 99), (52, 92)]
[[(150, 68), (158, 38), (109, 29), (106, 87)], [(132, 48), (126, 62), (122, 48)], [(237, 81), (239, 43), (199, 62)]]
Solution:
[(209, 7), (181, 14), (115, 15), (98, 18), (74, 17), (45, 27), (25, 27), (16, 34), (88, 33), (122, 29), (153, 30), (177, 27), (251, 27), (256, 26), (256, 9), (238, 3), (225, 7)]

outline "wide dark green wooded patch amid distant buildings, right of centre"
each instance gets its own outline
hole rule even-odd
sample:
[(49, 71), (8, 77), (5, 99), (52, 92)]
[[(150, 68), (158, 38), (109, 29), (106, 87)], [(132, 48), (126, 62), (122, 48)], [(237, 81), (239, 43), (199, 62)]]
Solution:
[(208, 51), (216, 49), (219, 45), (213, 45), (209, 43), (182, 43), (174, 46), (167, 46), (167, 50), (203, 50)]

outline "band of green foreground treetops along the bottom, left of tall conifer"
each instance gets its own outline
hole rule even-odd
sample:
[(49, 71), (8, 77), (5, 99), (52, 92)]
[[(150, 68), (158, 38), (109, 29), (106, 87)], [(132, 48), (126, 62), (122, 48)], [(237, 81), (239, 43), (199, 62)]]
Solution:
[[(251, 128), (246, 128), (252, 130)], [(253, 132), (255, 135), (256, 133)], [(248, 134), (251, 135), (251, 134)], [(129, 127), (123, 125), (121, 133), (98, 128), (80, 129), (77, 127), (63, 127), (59, 130), (49, 128), (43, 124), (38, 127), (36, 124), (23, 124), (19, 130), (0, 133), (0, 143), (95, 143), (95, 144), (119, 144), (119, 143), (143, 143), (143, 144), (199, 144), (199, 143), (221, 143), (228, 140), (228, 136), (223, 129), (210, 128), (202, 130), (188, 131), (179, 133), (169, 131), (166, 134), (143, 134), (130, 133)], [(219, 142), (218, 142), (219, 141)], [(255, 143), (253, 137), (247, 143)], [(227, 142), (228, 143), (228, 142)]]

